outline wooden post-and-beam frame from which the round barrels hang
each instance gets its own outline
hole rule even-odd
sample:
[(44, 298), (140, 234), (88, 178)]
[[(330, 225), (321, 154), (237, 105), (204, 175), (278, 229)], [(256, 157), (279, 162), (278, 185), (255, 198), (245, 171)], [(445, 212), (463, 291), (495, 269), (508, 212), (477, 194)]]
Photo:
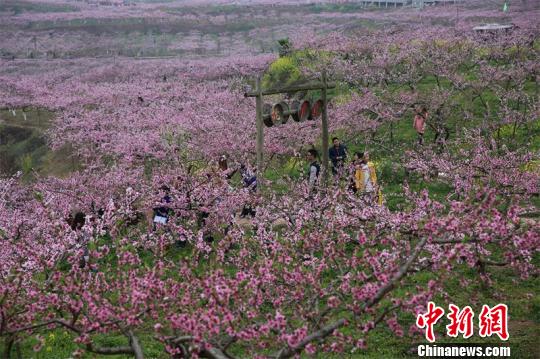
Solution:
[[(284, 93), (295, 93), (300, 91), (312, 91), (320, 90), (321, 91), (321, 100), (322, 100), (322, 178), (323, 185), (328, 184), (328, 114), (326, 111), (327, 108), (327, 90), (335, 88), (335, 83), (328, 83), (326, 79), (326, 71), (322, 72), (321, 76), (322, 81), (309, 82), (302, 85), (276, 88), (276, 89), (263, 89), (261, 86), (261, 78), (257, 78), (257, 84), (255, 91), (244, 93), (245, 97), (255, 97), (256, 98), (256, 117), (257, 117), (257, 188), (260, 189), (262, 186), (262, 175), (263, 175), (263, 151), (264, 151), (264, 123), (263, 119), (270, 114), (263, 114), (263, 96), (284, 94)], [(292, 115), (292, 111), (287, 111), (284, 113), (285, 116)]]

